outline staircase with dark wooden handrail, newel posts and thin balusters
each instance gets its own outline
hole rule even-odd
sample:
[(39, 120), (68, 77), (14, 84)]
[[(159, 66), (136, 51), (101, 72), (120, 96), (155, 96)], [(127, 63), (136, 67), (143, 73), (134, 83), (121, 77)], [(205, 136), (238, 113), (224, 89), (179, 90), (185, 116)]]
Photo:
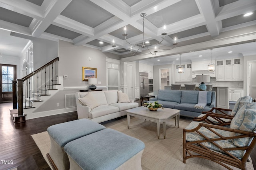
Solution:
[(56, 57), (24, 78), (12, 82), (13, 109), (10, 109), (10, 115), (14, 123), (25, 122), (26, 116), (29, 117), (36, 107), (58, 92), (58, 61)]

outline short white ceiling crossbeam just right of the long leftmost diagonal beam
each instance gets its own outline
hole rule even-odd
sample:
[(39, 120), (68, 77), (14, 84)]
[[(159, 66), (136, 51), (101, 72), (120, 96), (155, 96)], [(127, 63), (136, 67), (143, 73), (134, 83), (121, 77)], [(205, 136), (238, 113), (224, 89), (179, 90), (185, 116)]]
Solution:
[(59, 15), (52, 22), (52, 24), (86, 36), (94, 36), (94, 29), (92, 27), (84, 25), (78, 21), (74, 21), (62, 15)]

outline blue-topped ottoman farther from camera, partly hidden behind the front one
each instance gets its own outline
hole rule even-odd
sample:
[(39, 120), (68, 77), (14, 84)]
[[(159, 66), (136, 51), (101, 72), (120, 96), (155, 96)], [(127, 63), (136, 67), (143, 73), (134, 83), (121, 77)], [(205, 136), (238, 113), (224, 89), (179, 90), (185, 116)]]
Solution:
[(68, 156), (63, 147), (70, 141), (102, 129), (106, 129), (106, 127), (89, 119), (78, 119), (48, 127), (51, 147), (47, 158), (51, 165), (55, 169), (69, 170)]

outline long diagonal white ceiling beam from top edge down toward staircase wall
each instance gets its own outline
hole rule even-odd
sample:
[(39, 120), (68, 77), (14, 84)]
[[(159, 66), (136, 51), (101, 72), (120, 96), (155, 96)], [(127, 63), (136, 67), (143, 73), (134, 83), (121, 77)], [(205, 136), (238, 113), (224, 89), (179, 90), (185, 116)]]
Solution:
[(49, 25), (60, 15), (60, 13), (68, 6), (72, 0), (57, 0), (56, 3), (48, 9), (44, 20), (32, 30), (32, 35), (40, 37), (40, 35), (49, 27)]

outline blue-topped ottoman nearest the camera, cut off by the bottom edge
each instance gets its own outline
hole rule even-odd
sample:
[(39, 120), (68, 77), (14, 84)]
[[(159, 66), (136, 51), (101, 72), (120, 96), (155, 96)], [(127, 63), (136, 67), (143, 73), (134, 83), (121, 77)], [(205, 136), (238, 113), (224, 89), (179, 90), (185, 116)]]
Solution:
[(86, 135), (65, 145), (70, 170), (141, 170), (145, 145), (113, 129)]

